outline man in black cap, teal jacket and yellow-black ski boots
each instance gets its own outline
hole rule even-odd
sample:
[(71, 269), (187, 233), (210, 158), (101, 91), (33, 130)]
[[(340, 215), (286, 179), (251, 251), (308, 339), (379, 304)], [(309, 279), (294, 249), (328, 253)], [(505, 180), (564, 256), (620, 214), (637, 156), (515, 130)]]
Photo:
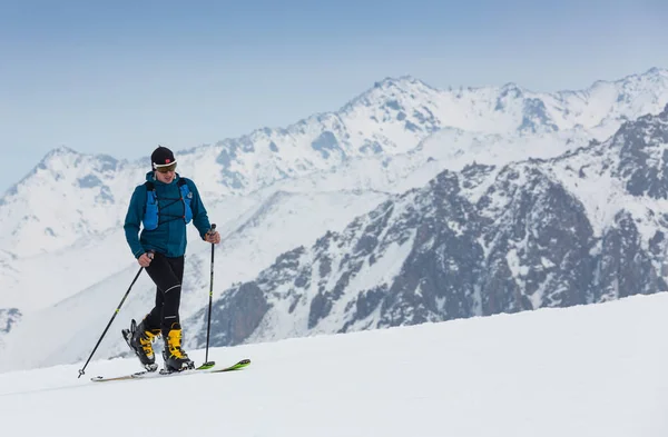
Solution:
[[(193, 368), (193, 361), (181, 348), (181, 326), (178, 316), (186, 225), (193, 225), (207, 242), (219, 244), (220, 235), (210, 230), (210, 224), (197, 187), (190, 179), (176, 172), (176, 159), (166, 147), (158, 147), (150, 156), (153, 170), (146, 182), (135, 188), (125, 219), (125, 234), (137, 262), (156, 284), (156, 305), (141, 322), (124, 336), (141, 364), (155, 371), (153, 342), (163, 336), (165, 369), (179, 371)], [(144, 227), (139, 232), (140, 225)]]

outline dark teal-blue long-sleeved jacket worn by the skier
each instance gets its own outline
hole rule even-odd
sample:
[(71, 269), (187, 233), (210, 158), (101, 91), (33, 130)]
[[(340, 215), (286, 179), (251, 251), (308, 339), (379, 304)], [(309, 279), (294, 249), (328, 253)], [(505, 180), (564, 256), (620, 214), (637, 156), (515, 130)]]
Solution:
[[(146, 180), (153, 182), (158, 199), (159, 225), (154, 230), (144, 228), (141, 234), (139, 234), (139, 229), (146, 215), (148, 190), (145, 185), (135, 188), (124, 225), (126, 240), (135, 258), (139, 258), (141, 254), (149, 250), (155, 250), (169, 258), (185, 255), (187, 224), (183, 217), (186, 215), (186, 202), (180, 200), (179, 179), (181, 178), (177, 173), (171, 183), (163, 183), (155, 178), (153, 171), (146, 173)], [(186, 181), (191, 195), (189, 203), (193, 211), (193, 225), (204, 239), (206, 232), (210, 229), (206, 209), (195, 182), (187, 178), (183, 178), (183, 180)]]

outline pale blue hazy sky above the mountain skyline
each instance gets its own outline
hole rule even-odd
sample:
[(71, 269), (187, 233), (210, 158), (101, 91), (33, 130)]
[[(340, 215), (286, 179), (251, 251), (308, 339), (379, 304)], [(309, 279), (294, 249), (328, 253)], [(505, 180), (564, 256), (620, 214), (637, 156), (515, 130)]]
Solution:
[(0, 193), (58, 146), (191, 148), (385, 77), (554, 91), (668, 68), (665, 3), (0, 0)]

